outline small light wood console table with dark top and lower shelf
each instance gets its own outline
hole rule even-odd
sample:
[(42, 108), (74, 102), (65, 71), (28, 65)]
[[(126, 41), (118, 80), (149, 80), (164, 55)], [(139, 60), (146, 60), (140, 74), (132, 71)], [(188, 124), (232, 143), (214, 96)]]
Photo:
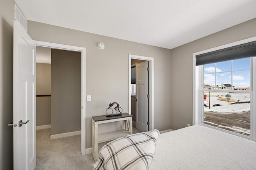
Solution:
[[(98, 134), (98, 125), (103, 123), (126, 121), (126, 127), (122, 130)], [(132, 134), (132, 115), (122, 113), (122, 116), (94, 116), (92, 117), (92, 156), (96, 161), (98, 158), (98, 143), (114, 140), (116, 138)]]

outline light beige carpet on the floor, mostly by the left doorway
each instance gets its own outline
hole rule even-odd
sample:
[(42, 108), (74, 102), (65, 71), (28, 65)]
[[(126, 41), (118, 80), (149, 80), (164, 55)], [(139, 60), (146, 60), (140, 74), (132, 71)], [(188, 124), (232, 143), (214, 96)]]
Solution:
[(36, 130), (36, 170), (92, 170), (92, 154), (81, 154), (81, 135), (50, 140), (50, 134), (51, 128)]

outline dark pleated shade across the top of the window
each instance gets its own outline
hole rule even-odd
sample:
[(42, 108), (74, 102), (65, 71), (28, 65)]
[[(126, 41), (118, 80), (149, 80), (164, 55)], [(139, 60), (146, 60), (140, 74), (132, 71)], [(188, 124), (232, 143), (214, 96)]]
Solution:
[(196, 55), (196, 65), (256, 56), (256, 41)]

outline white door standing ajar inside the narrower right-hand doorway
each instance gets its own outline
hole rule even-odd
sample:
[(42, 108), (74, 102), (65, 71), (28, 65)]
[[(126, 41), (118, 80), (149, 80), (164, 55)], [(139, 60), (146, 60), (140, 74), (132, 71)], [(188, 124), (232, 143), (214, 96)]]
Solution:
[(136, 64), (136, 128), (148, 131), (148, 61)]

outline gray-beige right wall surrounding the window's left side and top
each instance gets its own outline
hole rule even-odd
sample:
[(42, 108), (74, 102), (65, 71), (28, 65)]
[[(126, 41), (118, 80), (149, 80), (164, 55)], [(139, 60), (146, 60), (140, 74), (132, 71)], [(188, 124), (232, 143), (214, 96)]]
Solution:
[(171, 50), (171, 128), (192, 125), (192, 53), (256, 36), (256, 18)]

